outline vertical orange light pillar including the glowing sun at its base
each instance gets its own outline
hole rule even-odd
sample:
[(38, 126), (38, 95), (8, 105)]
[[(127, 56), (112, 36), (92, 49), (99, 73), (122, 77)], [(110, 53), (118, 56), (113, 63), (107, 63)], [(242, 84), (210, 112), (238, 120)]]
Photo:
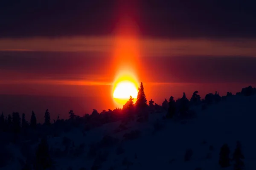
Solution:
[(115, 31), (113, 68), (116, 69), (112, 94), (116, 105), (122, 108), (130, 96), (137, 98), (140, 43), (137, 25), (129, 17), (123, 17)]

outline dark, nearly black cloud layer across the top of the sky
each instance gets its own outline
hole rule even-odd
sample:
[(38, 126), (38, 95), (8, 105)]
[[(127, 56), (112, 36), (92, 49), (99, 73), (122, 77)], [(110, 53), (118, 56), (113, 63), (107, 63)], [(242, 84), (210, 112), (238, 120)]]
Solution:
[(113, 34), (124, 16), (145, 36), (256, 36), (254, 0), (131, 1), (2, 0), (0, 37)]

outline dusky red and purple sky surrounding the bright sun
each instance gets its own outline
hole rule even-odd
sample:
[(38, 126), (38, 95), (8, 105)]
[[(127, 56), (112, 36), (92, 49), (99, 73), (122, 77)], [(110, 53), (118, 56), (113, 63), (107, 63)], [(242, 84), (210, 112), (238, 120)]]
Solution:
[[(17, 95), (78, 97), (66, 99), (76, 104), (83, 98), (79, 105), (86, 106), (79, 112), (114, 108), (111, 87), (123, 70), (135, 74), (156, 102), (172, 94), (177, 99), (183, 91), (203, 96), (240, 91), (256, 85), (255, 5), (253, 0), (2, 0), (0, 94), (12, 95), (9, 103), (22, 98)], [(5, 112), (22, 110), (19, 102), (7, 104)]]

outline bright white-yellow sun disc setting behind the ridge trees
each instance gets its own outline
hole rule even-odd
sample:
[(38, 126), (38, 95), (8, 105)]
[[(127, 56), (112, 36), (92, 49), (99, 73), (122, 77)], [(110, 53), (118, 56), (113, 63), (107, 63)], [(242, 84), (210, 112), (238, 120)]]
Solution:
[(114, 99), (129, 99), (130, 96), (137, 98), (138, 90), (133, 82), (128, 80), (116, 84), (113, 92)]

